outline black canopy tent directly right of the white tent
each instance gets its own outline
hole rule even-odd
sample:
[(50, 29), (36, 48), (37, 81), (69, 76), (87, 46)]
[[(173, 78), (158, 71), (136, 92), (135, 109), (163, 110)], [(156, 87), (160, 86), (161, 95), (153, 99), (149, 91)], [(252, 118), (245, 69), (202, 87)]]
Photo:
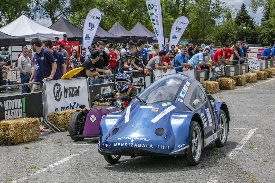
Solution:
[[(82, 44), (82, 35), (83, 30), (71, 24), (68, 20), (61, 17), (57, 20), (53, 25), (49, 27), (50, 29), (66, 32), (67, 33), (67, 41), (79, 41), (79, 44)], [(62, 38), (60, 38), (62, 39)], [(100, 36), (97, 34), (94, 36), (93, 43), (96, 43), (100, 40)]]

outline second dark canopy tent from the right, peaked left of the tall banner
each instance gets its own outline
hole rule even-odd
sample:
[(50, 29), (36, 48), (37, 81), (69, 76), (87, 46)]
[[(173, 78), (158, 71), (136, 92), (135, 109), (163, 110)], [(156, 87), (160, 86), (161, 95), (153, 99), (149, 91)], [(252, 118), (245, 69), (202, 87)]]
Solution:
[(147, 41), (146, 36), (137, 36), (135, 34), (130, 33), (128, 30), (126, 30), (122, 25), (120, 25), (118, 22), (116, 22), (113, 27), (108, 30), (109, 33), (115, 34), (117, 36), (127, 36), (127, 40), (133, 40), (138, 41), (139, 39), (144, 39)]

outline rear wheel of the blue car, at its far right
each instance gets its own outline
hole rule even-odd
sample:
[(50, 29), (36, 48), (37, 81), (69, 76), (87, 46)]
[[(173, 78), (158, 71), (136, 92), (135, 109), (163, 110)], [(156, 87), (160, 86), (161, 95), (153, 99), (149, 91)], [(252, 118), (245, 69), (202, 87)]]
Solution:
[(220, 135), (220, 138), (215, 140), (215, 144), (218, 147), (223, 147), (226, 144), (228, 127), (227, 127), (226, 114), (223, 112), (222, 109), (220, 110), (219, 120), (220, 120), (221, 135)]

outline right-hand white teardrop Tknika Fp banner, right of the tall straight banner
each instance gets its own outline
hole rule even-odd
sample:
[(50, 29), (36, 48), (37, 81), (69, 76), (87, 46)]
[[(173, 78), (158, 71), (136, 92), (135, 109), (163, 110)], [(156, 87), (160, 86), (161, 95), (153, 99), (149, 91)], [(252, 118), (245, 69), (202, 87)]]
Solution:
[(173, 26), (170, 32), (170, 42), (169, 42), (170, 48), (172, 45), (178, 44), (178, 41), (182, 37), (182, 34), (185, 31), (188, 24), (189, 24), (189, 20), (185, 16), (178, 17), (177, 20), (173, 23)]

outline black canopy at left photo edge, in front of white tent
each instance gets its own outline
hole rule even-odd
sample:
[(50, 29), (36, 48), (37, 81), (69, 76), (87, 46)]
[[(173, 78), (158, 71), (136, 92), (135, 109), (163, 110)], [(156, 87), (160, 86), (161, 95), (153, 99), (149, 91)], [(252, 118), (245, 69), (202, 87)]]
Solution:
[(22, 46), (26, 45), (26, 39), (11, 36), (0, 31), (0, 46)]

